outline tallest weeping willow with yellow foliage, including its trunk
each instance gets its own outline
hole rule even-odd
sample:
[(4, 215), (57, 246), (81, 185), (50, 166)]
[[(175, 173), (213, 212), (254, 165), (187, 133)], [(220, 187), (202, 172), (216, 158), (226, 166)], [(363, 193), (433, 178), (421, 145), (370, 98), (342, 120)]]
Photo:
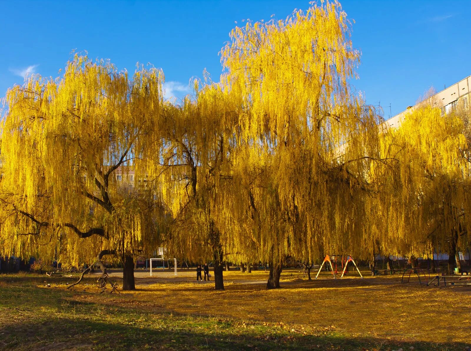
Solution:
[[(223, 90), (237, 106), (229, 252), (270, 262), (279, 286), (286, 255), (363, 253), (374, 186), (377, 113), (349, 87), (359, 52), (337, 2), (286, 20), (236, 27), (222, 49)], [(238, 179), (236, 179), (238, 178)]]

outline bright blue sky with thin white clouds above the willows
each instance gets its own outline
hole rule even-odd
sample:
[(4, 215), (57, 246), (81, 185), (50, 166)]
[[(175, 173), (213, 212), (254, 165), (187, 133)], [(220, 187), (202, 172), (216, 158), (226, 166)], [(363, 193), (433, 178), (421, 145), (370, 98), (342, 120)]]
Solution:
[[(388, 118), (471, 74), (471, 1), (341, 1), (362, 52), (357, 90)], [(26, 71), (57, 76), (73, 49), (163, 69), (167, 94), (182, 96), (191, 77), (221, 72), (228, 33), (252, 21), (285, 18), (309, 1), (5, 1), (0, 3), (0, 97)], [(388, 107), (386, 107), (388, 106)]]

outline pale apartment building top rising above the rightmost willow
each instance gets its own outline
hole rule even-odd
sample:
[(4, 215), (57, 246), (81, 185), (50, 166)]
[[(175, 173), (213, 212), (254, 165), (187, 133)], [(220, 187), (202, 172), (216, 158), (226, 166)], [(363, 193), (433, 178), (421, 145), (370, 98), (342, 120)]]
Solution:
[[(448, 88), (439, 91), (435, 95), (428, 97), (426, 100), (429, 100), (429, 103), (432, 106), (439, 107), (443, 115), (454, 110), (459, 104), (463, 104), (465, 108), (468, 107), (471, 98), (470, 92), (471, 75), (453, 85), (450, 85)], [(396, 114), (384, 123), (387, 127), (398, 128), (404, 120), (404, 116), (418, 105), (419, 104), (408, 106), (406, 110), (402, 111), (400, 114)]]

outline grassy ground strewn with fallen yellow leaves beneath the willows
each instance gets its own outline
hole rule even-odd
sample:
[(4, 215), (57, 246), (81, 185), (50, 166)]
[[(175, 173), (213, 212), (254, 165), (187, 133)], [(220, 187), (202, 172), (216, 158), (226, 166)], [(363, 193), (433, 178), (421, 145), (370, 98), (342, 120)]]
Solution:
[[(137, 274), (138, 290), (97, 294), (92, 277), (0, 275), (0, 350), (467, 350), (465, 288), (401, 284), (400, 276), (300, 279), (224, 272), (225, 291)], [(160, 277), (159, 277), (160, 276)], [(260, 283), (260, 284), (259, 284)], [(47, 286), (50, 284), (50, 287)], [(414, 348), (414, 349), (411, 349)]]

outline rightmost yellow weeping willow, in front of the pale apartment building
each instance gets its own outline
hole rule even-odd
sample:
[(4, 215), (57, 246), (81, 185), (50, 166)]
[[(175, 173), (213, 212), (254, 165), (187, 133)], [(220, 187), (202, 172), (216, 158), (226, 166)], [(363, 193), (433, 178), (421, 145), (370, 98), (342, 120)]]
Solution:
[(392, 189), (378, 202), (385, 252), (415, 257), (447, 252), (449, 273), (459, 262), (457, 250), (470, 242), (468, 114), (442, 116), (424, 105), (385, 133), (382, 153), (398, 160), (394, 170), (381, 174)]

